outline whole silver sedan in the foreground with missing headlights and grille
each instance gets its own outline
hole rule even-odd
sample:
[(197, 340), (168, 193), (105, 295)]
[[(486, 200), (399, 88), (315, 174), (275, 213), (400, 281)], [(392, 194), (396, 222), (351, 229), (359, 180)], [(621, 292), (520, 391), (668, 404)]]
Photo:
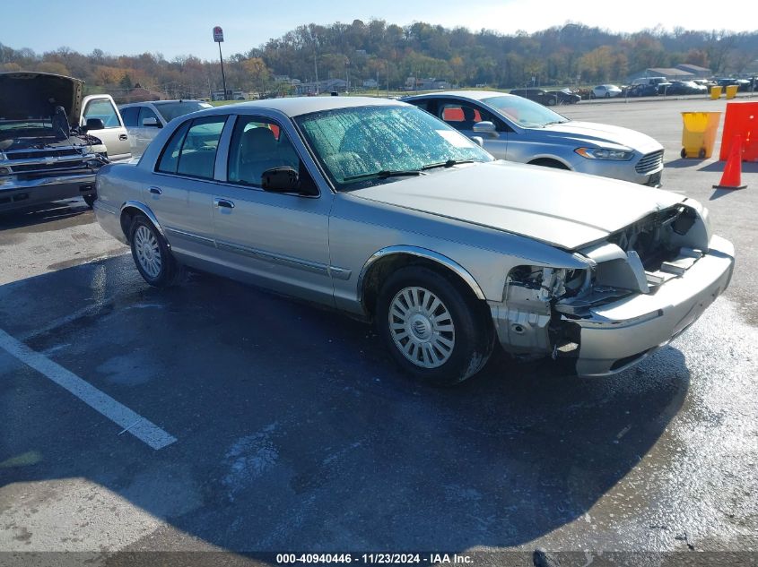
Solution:
[(493, 160), (382, 99), (188, 115), (138, 164), (100, 169), (97, 191), (100, 225), (152, 286), (189, 266), (373, 320), (434, 384), (476, 374), (496, 342), (619, 372), (694, 322), (734, 264), (697, 202)]

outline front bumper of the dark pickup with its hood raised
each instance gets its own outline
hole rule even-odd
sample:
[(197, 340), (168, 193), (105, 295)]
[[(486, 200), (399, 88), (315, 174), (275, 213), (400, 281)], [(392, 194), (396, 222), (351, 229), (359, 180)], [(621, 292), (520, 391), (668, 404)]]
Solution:
[(81, 195), (95, 194), (95, 173), (18, 179), (0, 178), (0, 210), (14, 210)]

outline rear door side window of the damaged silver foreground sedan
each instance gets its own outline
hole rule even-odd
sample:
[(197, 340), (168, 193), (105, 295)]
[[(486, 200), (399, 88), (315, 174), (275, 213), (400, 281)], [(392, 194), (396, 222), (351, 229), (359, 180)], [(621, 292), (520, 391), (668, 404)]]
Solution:
[(226, 116), (187, 121), (171, 136), (158, 161), (158, 171), (213, 179), (216, 150)]

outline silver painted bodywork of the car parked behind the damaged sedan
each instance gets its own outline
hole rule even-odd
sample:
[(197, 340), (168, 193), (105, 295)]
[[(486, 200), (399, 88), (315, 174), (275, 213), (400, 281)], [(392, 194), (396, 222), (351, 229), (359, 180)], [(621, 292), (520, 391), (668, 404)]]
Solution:
[[(536, 159), (554, 159), (566, 168), (580, 173), (611, 177), (646, 184), (650, 176), (663, 169), (661, 163), (644, 175), (635, 171), (635, 164), (640, 158), (653, 151), (663, 150), (663, 146), (649, 136), (612, 125), (589, 122), (574, 122), (548, 125), (545, 128), (524, 128), (503, 116), (496, 107), (486, 103), (485, 99), (497, 96), (515, 97), (507, 93), (489, 90), (456, 90), (429, 95), (405, 97), (414, 103), (422, 100), (455, 99), (484, 108), (498, 116), (513, 132), (483, 133), (474, 130), (461, 130), (468, 137), (479, 136), (484, 141), (484, 149), (495, 158), (508, 159), (520, 163), (529, 163)], [(535, 103), (536, 104), (536, 103)], [(610, 159), (587, 159), (574, 150), (580, 147), (626, 147), (634, 150), (634, 156), (628, 161)]]

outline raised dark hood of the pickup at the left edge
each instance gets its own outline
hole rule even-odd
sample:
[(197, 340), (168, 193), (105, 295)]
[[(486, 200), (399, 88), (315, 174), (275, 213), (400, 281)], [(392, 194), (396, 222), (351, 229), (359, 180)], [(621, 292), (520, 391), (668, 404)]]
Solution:
[(50, 116), (63, 107), (70, 125), (79, 119), (83, 81), (52, 73), (30, 71), (0, 73), (0, 118)]

